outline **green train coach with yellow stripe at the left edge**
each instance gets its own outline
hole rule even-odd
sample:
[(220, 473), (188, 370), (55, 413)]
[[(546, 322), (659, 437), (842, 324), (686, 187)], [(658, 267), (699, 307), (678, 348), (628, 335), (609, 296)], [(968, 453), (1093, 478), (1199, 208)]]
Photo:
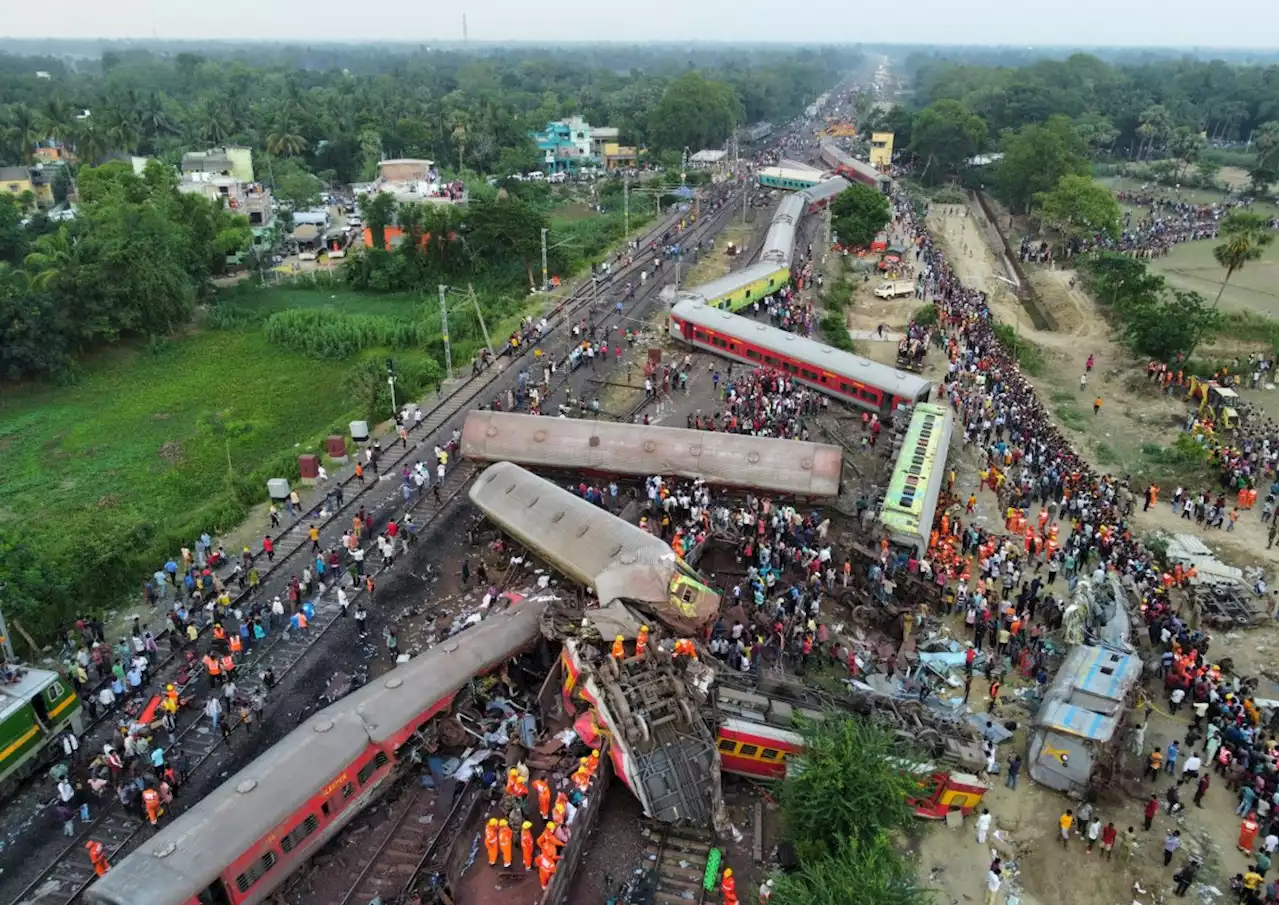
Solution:
[(61, 673), (18, 666), (0, 677), (0, 794), (45, 763), (50, 742), (83, 728), (76, 686)]

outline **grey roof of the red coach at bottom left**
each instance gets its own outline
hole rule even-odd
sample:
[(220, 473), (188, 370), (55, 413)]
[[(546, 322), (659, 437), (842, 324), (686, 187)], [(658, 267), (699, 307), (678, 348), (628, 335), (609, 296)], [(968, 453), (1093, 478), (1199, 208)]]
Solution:
[(527, 646), (541, 612), (543, 604), (522, 603), (495, 613), (317, 712), (114, 865), (88, 888), (88, 900), (193, 900), (271, 829), (282, 823), (283, 832), (292, 829), (289, 821), (370, 741), (385, 739), (475, 672)]

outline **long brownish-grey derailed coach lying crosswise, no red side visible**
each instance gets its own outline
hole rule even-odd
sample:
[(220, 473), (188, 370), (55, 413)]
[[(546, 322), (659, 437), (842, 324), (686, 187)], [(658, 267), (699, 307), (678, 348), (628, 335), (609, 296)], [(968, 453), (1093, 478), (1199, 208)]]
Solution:
[(680, 475), (799, 497), (840, 493), (840, 448), (719, 431), (472, 411), (462, 454), (484, 462)]

